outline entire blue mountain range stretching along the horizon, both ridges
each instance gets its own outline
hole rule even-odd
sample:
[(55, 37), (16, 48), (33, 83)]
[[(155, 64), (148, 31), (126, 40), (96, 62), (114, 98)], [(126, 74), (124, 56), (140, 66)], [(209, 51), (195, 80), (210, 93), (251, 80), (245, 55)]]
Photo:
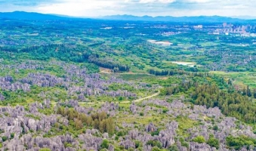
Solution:
[[(69, 17), (57, 14), (39, 14), (28, 13), (24, 11), (14, 11), (10, 13), (0, 13), (0, 19), (14, 19), (14, 20), (73, 20), (85, 19)], [(199, 17), (150, 17), (143, 16), (137, 17), (132, 15), (113, 15), (105, 17), (96, 17), (97, 20), (133, 20), (133, 21), (163, 21), (163, 22), (180, 22), (180, 23), (248, 23), (256, 20), (243, 20), (233, 17), (220, 17), (220, 16), (199, 16)]]

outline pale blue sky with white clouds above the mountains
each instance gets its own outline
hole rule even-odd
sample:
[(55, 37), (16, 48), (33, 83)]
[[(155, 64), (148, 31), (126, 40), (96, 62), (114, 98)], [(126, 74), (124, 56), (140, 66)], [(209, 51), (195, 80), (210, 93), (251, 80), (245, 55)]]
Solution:
[(256, 16), (256, 0), (0, 0), (0, 12), (30, 11), (97, 17), (137, 16)]

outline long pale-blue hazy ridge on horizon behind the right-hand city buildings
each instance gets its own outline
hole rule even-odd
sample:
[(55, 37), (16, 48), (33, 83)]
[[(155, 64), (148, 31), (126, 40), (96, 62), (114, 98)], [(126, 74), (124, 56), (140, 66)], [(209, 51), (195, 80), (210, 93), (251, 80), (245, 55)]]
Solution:
[(104, 20), (140, 20), (140, 21), (166, 21), (166, 22), (184, 22), (184, 23), (239, 23), (249, 22), (254, 20), (242, 20), (231, 17), (220, 17), (220, 16), (199, 16), (199, 17), (150, 17), (143, 16), (137, 17), (132, 15), (113, 15), (101, 17)]

